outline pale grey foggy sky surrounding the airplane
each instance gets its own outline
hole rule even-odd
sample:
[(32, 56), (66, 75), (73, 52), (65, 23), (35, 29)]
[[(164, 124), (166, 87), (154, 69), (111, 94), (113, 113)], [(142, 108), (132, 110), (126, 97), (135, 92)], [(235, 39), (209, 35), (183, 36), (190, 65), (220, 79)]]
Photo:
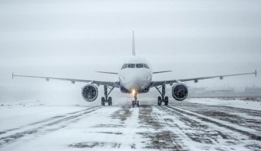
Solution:
[[(132, 54), (133, 30), (136, 55), (153, 71), (172, 70), (152, 80), (261, 71), (261, 1), (1, 1), (0, 101), (86, 104), (84, 83), (12, 73), (117, 81), (95, 71), (119, 70)], [(261, 75), (186, 84), (242, 90), (261, 86)]]

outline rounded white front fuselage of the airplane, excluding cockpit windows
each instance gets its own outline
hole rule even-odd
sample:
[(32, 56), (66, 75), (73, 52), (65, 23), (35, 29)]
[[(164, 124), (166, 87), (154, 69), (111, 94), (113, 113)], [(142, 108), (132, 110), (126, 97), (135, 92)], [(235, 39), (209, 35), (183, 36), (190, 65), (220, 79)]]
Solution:
[(152, 80), (152, 70), (148, 62), (144, 58), (133, 56), (131, 60), (124, 62), (124, 64), (146, 64), (149, 69), (143, 68), (125, 68), (120, 69), (119, 81), (122, 86), (128, 91), (142, 91), (146, 89)]

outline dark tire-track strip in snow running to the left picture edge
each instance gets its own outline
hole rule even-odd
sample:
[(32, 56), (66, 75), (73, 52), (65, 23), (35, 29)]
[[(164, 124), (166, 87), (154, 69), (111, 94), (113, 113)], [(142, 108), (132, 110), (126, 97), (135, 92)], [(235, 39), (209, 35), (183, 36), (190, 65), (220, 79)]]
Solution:
[(43, 122), (36, 122), (37, 124), (42, 124), (42, 123), (46, 123), (46, 121), (51, 121), (50, 123), (47, 122), (47, 124), (43, 124), (43, 125), (38, 126), (36, 128), (30, 128), (30, 130), (23, 130), (22, 132), (15, 132), (12, 135), (8, 135), (8, 133), (6, 133), (5, 136), (0, 137), (0, 147), (7, 145), (9, 143), (13, 143), (17, 139), (20, 139), (21, 137), (25, 137), (27, 135), (33, 135), (33, 134), (34, 134), (34, 136), (36, 136), (36, 134), (44, 135), (47, 132), (52, 132), (54, 130), (59, 130), (60, 128), (65, 128), (68, 124), (58, 126), (56, 128), (49, 128), (49, 127), (54, 126), (56, 124), (63, 123), (63, 122), (67, 122), (67, 121), (70, 121), (70, 120), (71, 120), (70, 123), (76, 122), (80, 119), (78, 117), (82, 117), (82, 115), (87, 115), (87, 114), (89, 114), (93, 111), (96, 111), (98, 108), (102, 108), (102, 107), (96, 106), (96, 107), (93, 107), (93, 108), (84, 109), (82, 111), (69, 113), (69, 115), (67, 115), (66, 117), (59, 117), (59, 118), (55, 119), (54, 121), (51, 120), (52, 118), (50, 118), (50, 120), (44, 120)]

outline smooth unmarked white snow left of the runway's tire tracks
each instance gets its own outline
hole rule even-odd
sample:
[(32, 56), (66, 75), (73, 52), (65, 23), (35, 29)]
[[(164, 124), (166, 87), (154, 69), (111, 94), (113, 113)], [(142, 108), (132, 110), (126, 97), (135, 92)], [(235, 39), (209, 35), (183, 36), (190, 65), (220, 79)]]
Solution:
[(47, 118), (62, 116), (66, 113), (79, 111), (87, 106), (56, 106), (45, 105), (45, 102), (1, 102), (0, 108), (0, 131), (27, 126), (34, 121), (41, 121)]

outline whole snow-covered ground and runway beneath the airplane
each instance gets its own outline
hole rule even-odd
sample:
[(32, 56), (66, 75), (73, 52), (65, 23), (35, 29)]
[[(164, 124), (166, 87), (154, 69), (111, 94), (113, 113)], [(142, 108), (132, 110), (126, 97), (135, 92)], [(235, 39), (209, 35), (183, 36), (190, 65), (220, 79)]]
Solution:
[(0, 150), (261, 150), (261, 102), (148, 102), (1, 102)]

